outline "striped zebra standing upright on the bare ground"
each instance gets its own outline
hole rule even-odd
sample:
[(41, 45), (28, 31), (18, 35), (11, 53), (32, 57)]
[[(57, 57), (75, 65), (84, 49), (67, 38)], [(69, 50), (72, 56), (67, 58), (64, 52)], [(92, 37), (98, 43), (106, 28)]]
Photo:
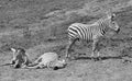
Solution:
[[(92, 40), (92, 55), (97, 49), (98, 40), (105, 36), (108, 30), (116, 33), (120, 31), (118, 23), (114, 21), (116, 14), (109, 13), (106, 18), (99, 19), (92, 24), (74, 23), (68, 27), (69, 45), (66, 48), (66, 58), (69, 57), (68, 53), (76, 40)], [(99, 56), (99, 53), (98, 53)]]

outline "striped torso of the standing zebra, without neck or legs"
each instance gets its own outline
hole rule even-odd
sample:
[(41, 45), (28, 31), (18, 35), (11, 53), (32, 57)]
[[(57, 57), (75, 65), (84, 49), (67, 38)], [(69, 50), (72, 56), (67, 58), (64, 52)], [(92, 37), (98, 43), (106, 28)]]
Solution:
[(92, 40), (92, 37), (100, 33), (96, 23), (94, 24), (82, 24), (74, 23), (68, 27), (68, 37), (69, 39), (85, 39)]

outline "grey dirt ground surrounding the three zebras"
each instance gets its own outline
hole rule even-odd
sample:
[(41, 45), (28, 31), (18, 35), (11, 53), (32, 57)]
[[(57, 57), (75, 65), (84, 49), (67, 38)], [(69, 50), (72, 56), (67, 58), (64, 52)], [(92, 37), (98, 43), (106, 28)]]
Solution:
[(0, 67), (0, 81), (132, 81), (132, 0), (0, 0), (0, 65), (10, 62), (10, 47), (26, 49), (32, 60), (46, 51), (62, 58), (67, 27), (92, 23), (111, 10), (119, 34), (99, 43), (102, 60), (91, 60), (91, 43), (73, 47), (66, 68), (13, 69)]

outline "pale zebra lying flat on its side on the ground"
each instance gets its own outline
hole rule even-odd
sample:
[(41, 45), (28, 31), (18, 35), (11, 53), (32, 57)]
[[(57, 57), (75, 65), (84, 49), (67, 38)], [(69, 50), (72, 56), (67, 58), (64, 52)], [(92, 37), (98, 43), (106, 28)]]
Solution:
[(25, 66), (23, 68), (48, 68), (48, 69), (59, 69), (66, 66), (66, 61), (58, 60), (58, 55), (56, 53), (45, 53), (40, 56), (33, 63)]

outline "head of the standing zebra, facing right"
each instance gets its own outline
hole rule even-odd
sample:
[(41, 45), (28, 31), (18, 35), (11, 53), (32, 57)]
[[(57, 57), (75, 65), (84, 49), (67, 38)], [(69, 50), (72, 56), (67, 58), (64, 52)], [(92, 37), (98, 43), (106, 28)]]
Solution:
[(109, 13), (107, 14), (107, 18), (109, 20), (109, 26), (110, 28), (112, 28), (113, 31), (116, 31), (117, 33), (119, 33), (120, 31), (120, 26), (116, 21), (116, 14), (114, 13)]

